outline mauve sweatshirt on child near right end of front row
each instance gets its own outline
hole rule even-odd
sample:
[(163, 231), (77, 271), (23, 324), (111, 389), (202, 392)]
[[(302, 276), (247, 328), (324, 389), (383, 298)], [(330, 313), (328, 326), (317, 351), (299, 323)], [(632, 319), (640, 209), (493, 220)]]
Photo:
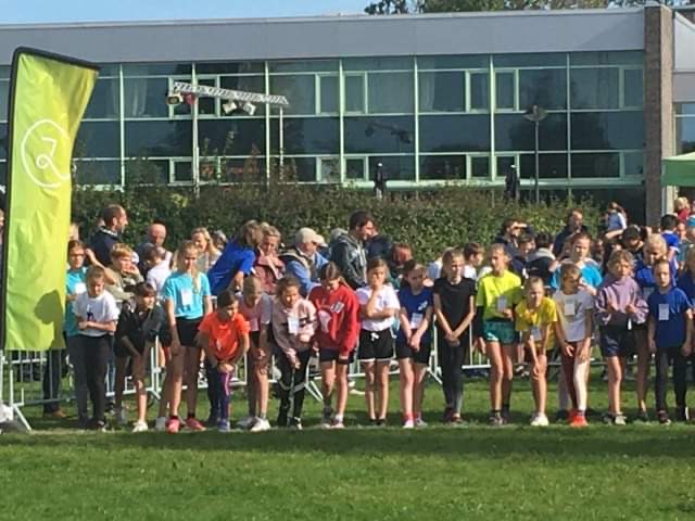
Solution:
[[(608, 303), (611, 303), (618, 310), (609, 312)], [(634, 314), (628, 315), (626, 313), (626, 307), (629, 304), (635, 307)], [(649, 313), (647, 303), (642, 297), (640, 285), (632, 277), (624, 277), (618, 280), (614, 277), (607, 277), (598, 289), (594, 308), (596, 309), (596, 321), (599, 326), (626, 327), (628, 319), (632, 320), (633, 323), (644, 323)]]

